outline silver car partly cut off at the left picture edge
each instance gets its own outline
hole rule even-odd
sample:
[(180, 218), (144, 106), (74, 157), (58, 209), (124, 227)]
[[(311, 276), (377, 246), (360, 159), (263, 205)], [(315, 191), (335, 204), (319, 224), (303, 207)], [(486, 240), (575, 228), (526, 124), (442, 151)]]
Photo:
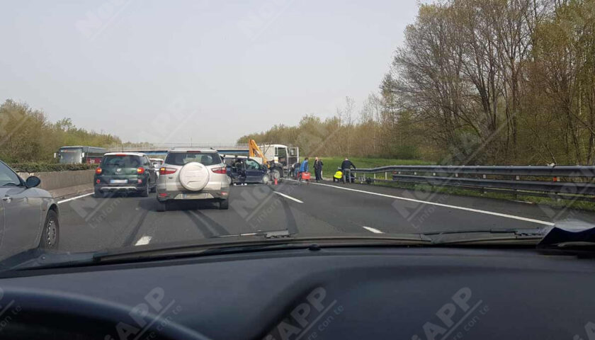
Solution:
[(52, 195), (35, 188), (38, 177), (21, 179), (0, 161), (0, 257), (33, 248), (56, 249), (60, 236), (58, 205)]

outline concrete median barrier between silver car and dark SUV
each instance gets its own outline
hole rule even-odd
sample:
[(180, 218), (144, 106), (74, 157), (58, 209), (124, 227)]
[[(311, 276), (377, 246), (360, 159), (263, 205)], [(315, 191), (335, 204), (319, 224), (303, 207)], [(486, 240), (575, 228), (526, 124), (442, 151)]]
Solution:
[(38, 188), (50, 191), (54, 198), (64, 198), (74, 194), (80, 194), (84, 191), (91, 191), (93, 188), (93, 176), (95, 170), (75, 170), (75, 171), (52, 171), (37, 173), (18, 173), (22, 179), (29, 176), (38, 176), (41, 184)]

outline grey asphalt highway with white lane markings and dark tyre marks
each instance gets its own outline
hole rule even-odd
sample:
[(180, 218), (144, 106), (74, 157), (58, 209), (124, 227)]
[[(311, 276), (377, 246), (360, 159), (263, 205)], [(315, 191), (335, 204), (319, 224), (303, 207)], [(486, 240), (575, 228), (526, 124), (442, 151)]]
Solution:
[(280, 229), (313, 236), (577, 225), (595, 221), (595, 213), (365, 184), (282, 181), (232, 187), (229, 210), (186, 203), (157, 212), (154, 193), (89, 195), (62, 201), (60, 221), (60, 250), (98, 251)]

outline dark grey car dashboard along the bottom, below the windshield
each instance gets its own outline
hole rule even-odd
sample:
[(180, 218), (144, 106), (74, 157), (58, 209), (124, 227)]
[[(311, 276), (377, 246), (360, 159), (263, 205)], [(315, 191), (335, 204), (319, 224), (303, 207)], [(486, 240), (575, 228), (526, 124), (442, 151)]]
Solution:
[[(0, 280), (0, 337), (591, 339), (594, 273), (533, 249), (370, 246), (26, 270)], [(21, 302), (47, 306), (27, 316)]]

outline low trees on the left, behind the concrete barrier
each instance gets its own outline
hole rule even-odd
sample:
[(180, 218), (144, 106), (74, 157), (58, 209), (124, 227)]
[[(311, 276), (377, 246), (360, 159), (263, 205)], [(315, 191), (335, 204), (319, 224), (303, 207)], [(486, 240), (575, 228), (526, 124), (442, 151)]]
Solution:
[(70, 118), (51, 123), (26, 103), (8, 99), (0, 105), (0, 159), (4, 162), (55, 162), (54, 152), (65, 145), (115, 144), (121, 144), (120, 138), (77, 128)]

